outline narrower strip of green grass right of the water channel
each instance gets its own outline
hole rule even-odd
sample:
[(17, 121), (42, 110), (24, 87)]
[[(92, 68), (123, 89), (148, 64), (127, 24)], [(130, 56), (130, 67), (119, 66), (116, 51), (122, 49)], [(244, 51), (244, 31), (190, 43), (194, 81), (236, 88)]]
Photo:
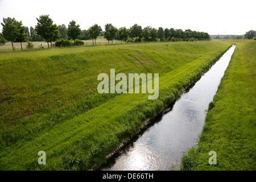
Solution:
[[(209, 104), (197, 147), (181, 159), (183, 170), (256, 169), (256, 42), (238, 40), (236, 50)], [(217, 164), (208, 153), (215, 151)]]

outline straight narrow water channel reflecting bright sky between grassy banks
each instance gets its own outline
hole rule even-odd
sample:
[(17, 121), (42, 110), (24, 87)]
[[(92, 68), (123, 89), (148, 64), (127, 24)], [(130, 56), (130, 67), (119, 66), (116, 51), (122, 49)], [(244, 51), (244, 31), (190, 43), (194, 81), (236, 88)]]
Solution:
[(208, 105), (216, 94), (235, 48), (232, 46), (168, 111), (159, 115), (154, 125), (102, 170), (178, 169), (183, 152), (196, 145)]

